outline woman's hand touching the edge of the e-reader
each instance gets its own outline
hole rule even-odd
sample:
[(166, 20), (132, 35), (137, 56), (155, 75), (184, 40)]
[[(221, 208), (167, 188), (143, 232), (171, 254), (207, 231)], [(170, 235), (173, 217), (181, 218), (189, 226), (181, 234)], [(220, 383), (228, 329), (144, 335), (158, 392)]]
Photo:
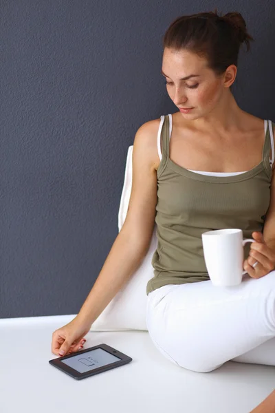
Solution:
[(65, 356), (71, 352), (82, 350), (86, 341), (84, 337), (89, 332), (90, 327), (75, 317), (65, 326), (58, 328), (52, 334), (52, 352), (58, 356)]

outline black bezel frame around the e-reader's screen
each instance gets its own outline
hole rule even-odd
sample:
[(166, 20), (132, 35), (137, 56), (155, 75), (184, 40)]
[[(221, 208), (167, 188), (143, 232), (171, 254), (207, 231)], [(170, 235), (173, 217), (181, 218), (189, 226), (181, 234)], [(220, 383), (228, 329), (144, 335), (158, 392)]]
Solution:
[[(95, 368), (94, 370), (90, 370), (88, 372), (80, 373), (77, 370), (74, 370), (74, 368), (67, 366), (67, 364), (62, 363), (62, 360), (65, 359), (71, 359), (72, 357), (76, 357), (78, 354), (85, 354), (85, 352), (89, 352), (91, 350), (96, 350), (96, 348), (102, 348), (102, 350), (105, 350), (112, 354), (115, 357), (118, 357), (120, 361), (114, 361), (113, 363), (107, 364), (107, 366), (102, 366)], [(117, 368), (120, 366), (124, 366), (124, 364), (130, 363), (132, 361), (131, 357), (126, 356), (126, 354), (116, 350), (115, 348), (108, 346), (107, 344), (98, 344), (98, 346), (90, 347), (90, 348), (85, 348), (85, 350), (80, 350), (77, 352), (74, 352), (72, 354), (67, 354), (63, 357), (58, 357), (57, 359), (52, 359), (49, 360), (49, 363), (58, 368), (59, 370), (62, 370), (66, 374), (69, 374), (69, 376), (74, 377), (76, 380), (81, 380), (81, 379), (86, 379), (86, 377), (94, 376), (95, 374), (106, 372), (107, 370), (111, 370), (113, 368)]]

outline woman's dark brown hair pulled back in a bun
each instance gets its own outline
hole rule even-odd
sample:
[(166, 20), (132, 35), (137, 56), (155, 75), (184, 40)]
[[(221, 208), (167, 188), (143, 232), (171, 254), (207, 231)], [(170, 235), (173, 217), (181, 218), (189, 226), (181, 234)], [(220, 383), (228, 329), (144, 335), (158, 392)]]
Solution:
[(237, 66), (241, 44), (245, 43), (248, 52), (250, 41), (254, 39), (248, 34), (240, 13), (219, 16), (215, 9), (178, 17), (166, 30), (163, 46), (204, 56), (210, 69), (220, 75), (228, 66)]

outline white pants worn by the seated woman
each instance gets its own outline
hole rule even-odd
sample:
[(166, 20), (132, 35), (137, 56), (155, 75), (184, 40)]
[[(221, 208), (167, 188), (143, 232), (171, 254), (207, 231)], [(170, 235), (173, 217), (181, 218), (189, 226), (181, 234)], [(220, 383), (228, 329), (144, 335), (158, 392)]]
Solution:
[(210, 372), (226, 361), (275, 366), (275, 271), (239, 286), (169, 284), (148, 294), (153, 343), (178, 366)]

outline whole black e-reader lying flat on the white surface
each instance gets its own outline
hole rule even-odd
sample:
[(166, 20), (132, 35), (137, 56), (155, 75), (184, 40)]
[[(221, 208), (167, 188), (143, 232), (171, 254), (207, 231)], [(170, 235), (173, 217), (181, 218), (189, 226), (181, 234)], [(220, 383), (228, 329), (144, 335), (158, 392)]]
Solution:
[(85, 348), (57, 359), (49, 360), (52, 366), (62, 370), (76, 380), (86, 379), (94, 374), (106, 372), (132, 361), (131, 357), (107, 344)]

